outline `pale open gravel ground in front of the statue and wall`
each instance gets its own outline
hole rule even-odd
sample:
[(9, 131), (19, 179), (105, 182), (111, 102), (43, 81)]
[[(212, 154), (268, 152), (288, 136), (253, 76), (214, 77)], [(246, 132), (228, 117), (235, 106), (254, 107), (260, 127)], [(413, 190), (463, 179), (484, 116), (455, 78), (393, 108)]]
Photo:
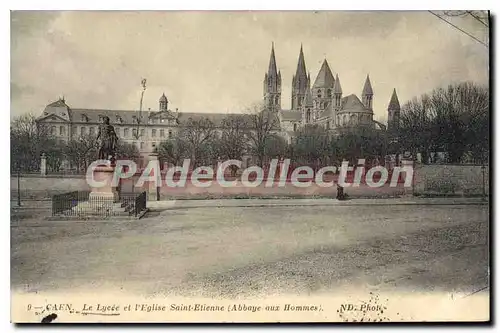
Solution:
[[(11, 222), (22, 292), (214, 298), (488, 285), (488, 207), (207, 207), (133, 222)], [(35, 214), (36, 215), (36, 214)]]

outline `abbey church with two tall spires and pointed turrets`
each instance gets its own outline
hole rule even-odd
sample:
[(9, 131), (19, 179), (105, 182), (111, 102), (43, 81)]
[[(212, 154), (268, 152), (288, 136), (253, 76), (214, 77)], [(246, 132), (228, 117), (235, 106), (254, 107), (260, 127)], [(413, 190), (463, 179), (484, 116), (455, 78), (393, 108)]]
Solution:
[(393, 90), (387, 108), (387, 127), (373, 120), (373, 88), (370, 77), (361, 93), (344, 96), (339, 75), (335, 77), (326, 59), (311, 86), (311, 76), (307, 73), (302, 45), (300, 47), (297, 70), (292, 78), (291, 109), (281, 108), (281, 71), (277, 70), (274, 44), (269, 59), (269, 69), (264, 76), (264, 105), (267, 111), (276, 112), (282, 131), (293, 132), (308, 124), (324, 126), (328, 130), (369, 127), (380, 130), (393, 130), (399, 123), (400, 105)]

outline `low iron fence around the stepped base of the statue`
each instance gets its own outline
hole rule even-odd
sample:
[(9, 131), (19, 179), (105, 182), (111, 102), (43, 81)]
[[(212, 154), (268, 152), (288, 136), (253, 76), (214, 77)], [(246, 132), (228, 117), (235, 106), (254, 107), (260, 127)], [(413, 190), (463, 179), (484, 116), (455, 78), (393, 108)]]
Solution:
[(74, 191), (52, 197), (52, 216), (92, 219), (95, 217), (138, 217), (146, 210), (146, 192), (120, 194), (112, 198), (90, 196), (90, 191)]

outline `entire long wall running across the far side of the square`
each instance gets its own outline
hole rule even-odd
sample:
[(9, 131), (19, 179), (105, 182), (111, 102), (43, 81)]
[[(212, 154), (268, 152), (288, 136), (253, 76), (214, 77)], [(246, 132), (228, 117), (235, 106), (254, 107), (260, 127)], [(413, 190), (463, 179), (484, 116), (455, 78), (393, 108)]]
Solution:
[[(484, 169), (484, 191), (489, 192), (489, 169)], [(164, 177), (164, 175), (163, 175)], [(162, 177), (162, 178), (163, 178)], [(137, 179), (137, 178), (136, 178)], [(232, 180), (232, 179), (228, 179)], [(327, 181), (325, 179), (325, 181)], [(330, 181), (330, 180), (328, 180)], [(331, 180), (333, 181), (333, 179)], [(122, 192), (132, 191), (132, 179), (122, 183)], [(355, 188), (346, 188), (346, 193), (351, 197), (397, 197), (401, 195), (460, 195), (481, 196), (483, 194), (483, 170), (478, 165), (419, 165), (414, 169), (413, 188), (404, 188), (398, 184), (390, 188), (386, 184), (381, 188), (370, 188), (364, 184)], [(11, 197), (17, 197), (17, 177), (10, 178)], [(141, 189), (134, 192), (148, 190), (146, 182)], [(20, 177), (21, 198), (25, 199), (49, 199), (52, 195), (70, 191), (89, 191), (85, 176), (61, 176), (47, 175), (42, 177), (36, 174), (25, 174)], [(237, 186), (223, 188), (216, 182), (210, 187), (199, 188), (193, 186), (190, 181), (183, 188), (169, 188), (163, 186), (159, 190), (161, 198), (197, 198), (197, 197), (295, 197), (295, 196), (335, 196), (336, 186), (321, 188), (312, 185), (307, 188), (297, 188), (287, 182), (285, 187), (275, 184), (267, 188), (264, 184), (255, 188), (246, 188), (241, 182)]]

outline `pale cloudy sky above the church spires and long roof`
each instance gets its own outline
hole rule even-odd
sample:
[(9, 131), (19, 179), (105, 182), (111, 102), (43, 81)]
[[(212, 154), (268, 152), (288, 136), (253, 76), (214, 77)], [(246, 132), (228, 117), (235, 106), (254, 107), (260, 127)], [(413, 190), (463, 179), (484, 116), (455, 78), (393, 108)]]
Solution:
[[(472, 17), (453, 23), (487, 42)], [(488, 84), (488, 49), (429, 12), (12, 12), (11, 117), (64, 95), (74, 108), (242, 112), (262, 100), (271, 43), (282, 107), (301, 43), (314, 82), (323, 59), (344, 96), (370, 74), (375, 119), (396, 88), (413, 96), (461, 81)]]

